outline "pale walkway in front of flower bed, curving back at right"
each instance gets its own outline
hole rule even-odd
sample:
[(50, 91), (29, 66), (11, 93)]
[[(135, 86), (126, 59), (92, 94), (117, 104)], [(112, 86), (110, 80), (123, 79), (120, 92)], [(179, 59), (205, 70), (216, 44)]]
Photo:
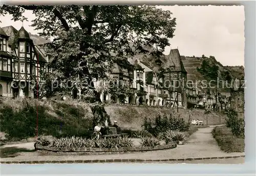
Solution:
[[(173, 149), (158, 150), (145, 153), (110, 154), (110, 155), (42, 155), (37, 152), (23, 152), (14, 158), (1, 158), (1, 161), (66, 161), (66, 160), (112, 160), (112, 159), (142, 159), (164, 160), (183, 158), (210, 158), (241, 156), (244, 153), (224, 153), (211, 135), (215, 126), (198, 129), (192, 134), (185, 145), (178, 145)], [(17, 146), (18, 145), (18, 146)], [(17, 144), (17, 147), (31, 149), (33, 143)], [(2, 147), (9, 147), (4, 145)], [(33, 147), (32, 147), (33, 148)]]

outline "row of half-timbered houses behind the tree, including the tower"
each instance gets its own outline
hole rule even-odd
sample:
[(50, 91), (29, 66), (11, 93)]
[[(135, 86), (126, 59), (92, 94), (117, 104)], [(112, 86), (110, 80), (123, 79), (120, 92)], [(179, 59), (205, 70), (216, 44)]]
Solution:
[[(0, 28), (0, 96), (33, 98), (35, 91), (31, 84), (33, 80), (37, 80), (39, 70), (51, 71), (48, 68), (48, 63), (51, 62), (52, 58), (49, 58), (40, 46), (33, 43), (24, 27), (20, 30), (12, 26)], [(129, 60), (129, 64), (134, 66), (133, 70), (127, 70), (122, 64), (114, 63), (109, 75), (116, 80), (115, 84), (136, 90), (136, 93), (114, 95), (102, 91), (100, 94), (102, 102), (111, 100), (124, 104), (209, 110), (225, 109), (232, 104), (236, 104), (237, 107), (243, 105), (243, 103), (239, 105), (232, 103), (231, 100), (233, 98), (237, 102), (237, 96), (243, 96), (243, 93), (233, 91), (236, 93), (232, 93), (229, 98), (209, 89), (187, 86), (187, 72), (178, 49), (171, 49), (164, 63), (166, 63), (163, 66), (166, 70), (164, 73), (156, 71), (153, 66), (140, 58)], [(183, 85), (177, 86), (177, 80)], [(16, 81), (15, 84), (13, 81)], [(95, 84), (97, 85), (97, 82)], [(70, 97), (80, 99), (81, 90), (74, 88)], [(241, 100), (243, 98), (238, 101)]]

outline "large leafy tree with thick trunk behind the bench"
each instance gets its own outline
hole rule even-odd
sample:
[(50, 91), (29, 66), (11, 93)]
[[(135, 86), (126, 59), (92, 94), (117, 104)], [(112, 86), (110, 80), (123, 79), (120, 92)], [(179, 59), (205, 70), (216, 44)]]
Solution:
[[(91, 95), (95, 124), (110, 120), (92, 81), (107, 78), (113, 62), (125, 63), (137, 53), (162, 55), (176, 27), (171, 12), (145, 5), (0, 7), (0, 13), (11, 14), (14, 21), (25, 19), (26, 10), (35, 14), (32, 26), (42, 31), (40, 36), (55, 38), (44, 46), (54, 58), (51, 78), (83, 85), (84, 93)], [(148, 51), (153, 46), (157, 49)]]

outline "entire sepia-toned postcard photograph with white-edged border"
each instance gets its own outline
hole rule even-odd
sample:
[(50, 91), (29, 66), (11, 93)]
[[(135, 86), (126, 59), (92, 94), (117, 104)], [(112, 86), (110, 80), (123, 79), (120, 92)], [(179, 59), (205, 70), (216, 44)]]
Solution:
[(0, 6), (2, 164), (245, 162), (244, 6)]

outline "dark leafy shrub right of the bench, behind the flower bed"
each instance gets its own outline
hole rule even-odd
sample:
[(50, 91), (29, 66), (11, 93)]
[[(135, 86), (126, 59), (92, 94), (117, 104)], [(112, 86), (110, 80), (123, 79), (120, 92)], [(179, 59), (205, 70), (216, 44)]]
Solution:
[(188, 131), (190, 127), (190, 123), (186, 122), (180, 115), (172, 112), (167, 116), (164, 114), (155, 118), (155, 122), (144, 120), (144, 124), (142, 125), (143, 129), (158, 136), (159, 133), (165, 132), (167, 130), (180, 131), (185, 132)]

